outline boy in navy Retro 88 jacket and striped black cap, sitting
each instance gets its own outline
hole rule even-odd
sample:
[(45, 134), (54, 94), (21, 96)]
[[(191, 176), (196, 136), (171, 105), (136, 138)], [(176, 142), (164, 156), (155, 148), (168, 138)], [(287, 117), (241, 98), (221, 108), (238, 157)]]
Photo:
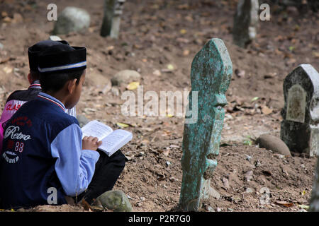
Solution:
[(26, 102), (7, 121), (0, 157), (2, 208), (28, 208), (48, 203), (52, 188), (58, 205), (66, 196), (89, 203), (111, 190), (125, 165), (118, 150), (99, 153), (97, 138), (84, 137), (77, 119), (66, 114), (82, 93), (86, 48), (57, 44), (39, 54), (43, 92)]

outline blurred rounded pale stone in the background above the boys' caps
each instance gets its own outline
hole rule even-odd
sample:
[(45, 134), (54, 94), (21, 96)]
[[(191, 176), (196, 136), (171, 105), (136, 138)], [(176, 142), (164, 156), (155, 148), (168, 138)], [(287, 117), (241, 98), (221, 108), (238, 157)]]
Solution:
[(57, 17), (53, 35), (82, 32), (89, 28), (90, 15), (83, 8), (66, 7)]

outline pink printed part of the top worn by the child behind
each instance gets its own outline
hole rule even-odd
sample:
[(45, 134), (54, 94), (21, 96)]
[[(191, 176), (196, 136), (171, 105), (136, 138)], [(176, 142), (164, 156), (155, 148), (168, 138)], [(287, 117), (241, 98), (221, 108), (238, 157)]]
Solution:
[(4, 107), (4, 112), (2, 112), (0, 119), (0, 154), (2, 152), (2, 141), (4, 140), (4, 126), (6, 126), (6, 121), (11, 119), (13, 114), (16, 113), (24, 103), (26, 103), (26, 101), (10, 100)]

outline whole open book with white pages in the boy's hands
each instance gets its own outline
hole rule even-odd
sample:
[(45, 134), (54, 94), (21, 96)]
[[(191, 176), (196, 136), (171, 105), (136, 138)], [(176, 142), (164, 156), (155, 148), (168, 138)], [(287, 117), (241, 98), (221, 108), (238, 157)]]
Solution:
[(88, 124), (82, 127), (82, 133), (84, 136), (94, 136), (102, 141), (100, 150), (106, 153), (106, 155), (111, 156), (116, 150), (122, 148), (126, 143), (128, 143), (133, 138), (133, 134), (129, 131), (123, 129), (117, 129), (113, 131), (110, 126), (106, 126), (99, 121), (89, 121)]

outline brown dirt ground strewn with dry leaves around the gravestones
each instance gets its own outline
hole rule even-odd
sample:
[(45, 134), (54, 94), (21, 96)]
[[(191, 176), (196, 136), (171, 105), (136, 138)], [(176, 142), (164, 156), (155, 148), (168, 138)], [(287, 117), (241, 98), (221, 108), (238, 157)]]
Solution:
[[(114, 189), (128, 195), (134, 211), (176, 209), (184, 119), (125, 117), (121, 114), (125, 86), (104, 93), (103, 88), (115, 73), (131, 69), (141, 74), (144, 93), (190, 90), (191, 61), (213, 37), (221, 38), (228, 48), (233, 78), (226, 93), (218, 167), (211, 179), (220, 197), (206, 200), (201, 210), (284, 212), (309, 205), (317, 159), (298, 153), (281, 157), (259, 148), (250, 137), (263, 133), (279, 137), (284, 78), (299, 64), (319, 69), (318, 13), (271, 6), (271, 20), (259, 21), (257, 39), (241, 49), (232, 40), (235, 0), (191, 4), (186, 0), (127, 1), (118, 40), (99, 35), (103, 1), (87, 2), (55, 1), (58, 13), (66, 6), (77, 6), (91, 15), (86, 32), (60, 35), (74, 46), (85, 46), (88, 52), (87, 81), (77, 113), (113, 129), (119, 128), (118, 122), (129, 125), (125, 129), (132, 131), (134, 138), (123, 147), (129, 161)], [(0, 42), (4, 46), (0, 47), (1, 109), (9, 93), (28, 86), (26, 50), (49, 37), (54, 26), (46, 16), (50, 3), (0, 0)], [(269, 203), (262, 205), (264, 188), (269, 191)]]

